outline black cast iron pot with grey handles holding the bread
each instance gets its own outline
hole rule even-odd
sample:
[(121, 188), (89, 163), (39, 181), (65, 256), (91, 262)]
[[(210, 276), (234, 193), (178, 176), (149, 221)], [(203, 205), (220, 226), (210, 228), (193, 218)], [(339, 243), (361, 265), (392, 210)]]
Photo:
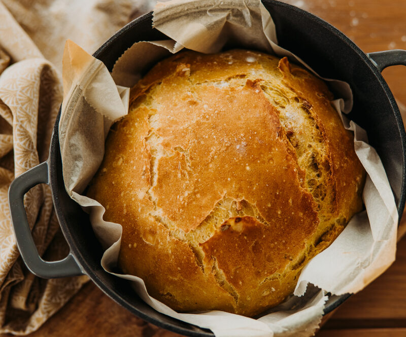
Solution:
[[(263, 4), (275, 21), (280, 46), (301, 57), (321, 76), (350, 84), (354, 93), (354, 108), (349, 117), (366, 129), (370, 144), (381, 157), (400, 219), (406, 191), (406, 134), (398, 107), (381, 71), (390, 65), (406, 65), (406, 51), (364, 54), (343, 33), (308, 12), (274, 0), (263, 0)], [(152, 27), (152, 13), (148, 13), (119, 30), (94, 56), (111, 71), (118, 57), (133, 43), (164, 39), (167, 37)], [(101, 268), (103, 250), (93, 234), (89, 217), (64, 188), (58, 139), (59, 117), (60, 111), (52, 134), (48, 161), (20, 175), (10, 186), (9, 202), (14, 231), (28, 269), (43, 278), (86, 274), (116, 302), (150, 323), (188, 336), (213, 336), (210, 330), (158, 313), (137, 296), (127, 281)], [(60, 227), (71, 248), (70, 254), (60, 261), (46, 262), (38, 255), (28, 228), (23, 196), (39, 183), (47, 183), (51, 187)], [(330, 297), (325, 313), (335, 309), (348, 297)]]

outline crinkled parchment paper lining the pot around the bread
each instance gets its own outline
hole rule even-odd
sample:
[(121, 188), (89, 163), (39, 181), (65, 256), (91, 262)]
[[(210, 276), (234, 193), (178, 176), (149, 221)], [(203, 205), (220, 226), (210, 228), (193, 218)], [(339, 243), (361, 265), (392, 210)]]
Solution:
[[(158, 4), (154, 25), (172, 40), (133, 45), (117, 61), (112, 77), (100, 61), (72, 43), (67, 43), (64, 55), (65, 94), (59, 126), (63, 176), (66, 190), (90, 213), (94, 232), (107, 249), (101, 260), (107, 271), (117, 261), (121, 226), (104, 221), (104, 207), (80, 193), (103, 158), (109, 127), (127, 113), (128, 90), (116, 85), (132, 86), (156, 61), (184, 47), (207, 53), (218, 52), (224, 46), (240, 46), (287, 55), (302, 63), (277, 46), (272, 18), (257, 0)], [(180, 314), (150, 297), (140, 278), (115, 275), (133, 281), (138, 294), (157, 311), (210, 328), (219, 337), (305, 337), (314, 333), (321, 320), (327, 292), (357, 292), (388, 268), (395, 257), (397, 228), (389, 182), (377, 153), (367, 144), (365, 132), (341, 113), (352, 106), (348, 84), (328, 81), (336, 97), (340, 97), (334, 106), (345, 127), (354, 131), (355, 150), (368, 174), (363, 191), (366, 211), (354, 216), (333, 244), (303, 269), (294, 291), (298, 296), (291, 296), (256, 320), (220, 311)]]

